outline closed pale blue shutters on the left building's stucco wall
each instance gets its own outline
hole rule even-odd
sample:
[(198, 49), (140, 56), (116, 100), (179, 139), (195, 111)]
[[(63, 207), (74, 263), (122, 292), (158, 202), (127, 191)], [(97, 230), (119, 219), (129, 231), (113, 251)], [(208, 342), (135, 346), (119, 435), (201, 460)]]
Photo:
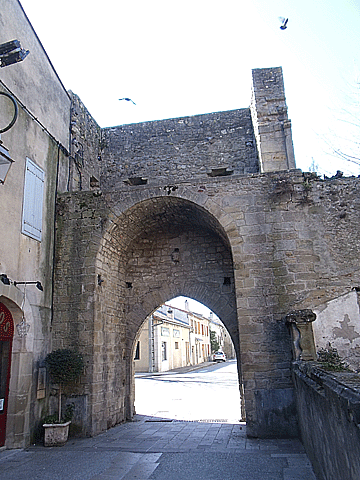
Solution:
[(21, 233), (41, 241), (44, 171), (26, 159)]

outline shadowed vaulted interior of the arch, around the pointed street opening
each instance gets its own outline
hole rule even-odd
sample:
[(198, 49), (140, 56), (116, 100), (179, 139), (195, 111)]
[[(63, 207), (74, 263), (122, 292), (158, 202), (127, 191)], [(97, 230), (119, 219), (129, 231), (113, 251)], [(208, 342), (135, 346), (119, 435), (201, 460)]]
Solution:
[[(122, 385), (118, 385), (125, 400), (120, 409), (131, 418), (136, 335), (145, 318), (167, 300), (185, 295), (207, 305), (222, 318), (239, 358), (233, 261), (220, 222), (204, 207), (184, 198), (143, 200), (113, 218), (108, 227), (96, 260), (97, 275), (103, 283), (96, 307), (99, 330), (94, 333), (106, 336), (109, 346), (104, 322), (116, 318), (113, 328), (122, 347), (118, 351), (113, 343), (112, 355), (118, 364), (125, 360)], [(108, 372), (112, 385), (118, 373)]]

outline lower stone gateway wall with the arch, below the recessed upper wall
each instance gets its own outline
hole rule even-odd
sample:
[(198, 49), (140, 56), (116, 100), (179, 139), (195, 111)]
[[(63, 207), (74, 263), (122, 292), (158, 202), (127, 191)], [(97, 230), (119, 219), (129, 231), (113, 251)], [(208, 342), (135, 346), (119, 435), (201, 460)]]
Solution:
[(161, 303), (186, 295), (234, 337), (238, 328), (249, 434), (297, 435), (282, 319), (358, 284), (359, 249), (344, 242), (358, 238), (356, 208), (343, 217), (341, 205), (356, 205), (359, 188), (356, 178), (293, 171), (209, 177), (169, 194), (124, 184), (61, 196), (54, 345), (79, 341), (89, 355), (91, 431), (131, 417), (136, 333)]

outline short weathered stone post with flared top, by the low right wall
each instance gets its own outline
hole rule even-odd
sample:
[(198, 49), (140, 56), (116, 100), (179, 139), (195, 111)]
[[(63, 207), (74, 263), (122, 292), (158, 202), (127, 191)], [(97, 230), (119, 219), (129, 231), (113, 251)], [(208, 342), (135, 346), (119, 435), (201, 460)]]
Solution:
[(314, 333), (311, 323), (316, 319), (312, 310), (294, 310), (284, 317), (290, 327), (294, 360), (316, 360)]

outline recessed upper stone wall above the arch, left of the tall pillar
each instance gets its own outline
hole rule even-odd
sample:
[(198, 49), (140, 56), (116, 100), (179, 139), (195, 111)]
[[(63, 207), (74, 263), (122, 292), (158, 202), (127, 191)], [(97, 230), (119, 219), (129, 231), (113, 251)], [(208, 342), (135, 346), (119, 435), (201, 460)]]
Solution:
[(104, 190), (259, 170), (249, 109), (106, 128)]

